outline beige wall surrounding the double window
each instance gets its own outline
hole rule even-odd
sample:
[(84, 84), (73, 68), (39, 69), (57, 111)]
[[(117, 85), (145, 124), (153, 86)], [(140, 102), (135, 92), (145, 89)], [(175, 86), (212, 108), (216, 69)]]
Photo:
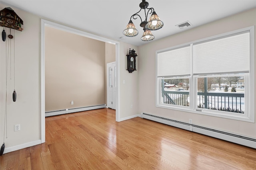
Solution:
[[(181, 33), (152, 41), (139, 47), (139, 108), (138, 112), (152, 113), (188, 123), (192, 119), (193, 124), (219, 129), (256, 139), (256, 123), (224, 119), (171, 109), (156, 107), (156, 51), (194, 40), (218, 35), (228, 31), (256, 25), (256, 8), (217, 20), (206, 25), (188, 29)], [(256, 35), (256, 34), (255, 34)], [(255, 47), (256, 49), (256, 47)], [(256, 74), (255, 74), (256, 75)], [(255, 80), (254, 80), (255, 81)], [(146, 84), (146, 86), (145, 86)], [(255, 94), (254, 94), (255, 95)], [(255, 104), (254, 104), (255, 105)], [(254, 112), (255, 113), (255, 112)]]

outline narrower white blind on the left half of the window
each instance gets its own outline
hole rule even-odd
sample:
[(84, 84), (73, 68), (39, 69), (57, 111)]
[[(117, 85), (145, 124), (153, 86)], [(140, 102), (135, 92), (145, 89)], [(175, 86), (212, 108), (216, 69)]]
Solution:
[(190, 46), (157, 54), (157, 76), (190, 75)]

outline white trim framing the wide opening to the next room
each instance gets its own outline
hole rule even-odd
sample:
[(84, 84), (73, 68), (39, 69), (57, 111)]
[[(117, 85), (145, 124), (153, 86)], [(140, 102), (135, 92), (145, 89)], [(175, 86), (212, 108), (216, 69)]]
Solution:
[(91, 39), (96, 39), (98, 41), (103, 41), (105, 43), (111, 43), (116, 45), (116, 86), (117, 86), (117, 100), (116, 100), (116, 121), (120, 121), (120, 43), (112, 39), (101, 37), (99, 35), (94, 35), (85, 31), (74, 29), (65, 25), (61, 25), (52, 21), (41, 19), (41, 143), (45, 142), (45, 27), (53, 27), (60, 29), (62, 31), (67, 31), (69, 33), (74, 33), (76, 35), (81, 35), (83, 37), (88, 37)]

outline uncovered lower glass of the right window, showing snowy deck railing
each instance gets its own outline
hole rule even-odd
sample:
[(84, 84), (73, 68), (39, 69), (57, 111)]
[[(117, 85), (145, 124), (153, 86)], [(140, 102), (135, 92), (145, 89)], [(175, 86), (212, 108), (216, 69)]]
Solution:
[(244, 78), (244, 74), (196, 76), (197, 109), (244, 114), (244, 88), (237, 88), (235, 84)]

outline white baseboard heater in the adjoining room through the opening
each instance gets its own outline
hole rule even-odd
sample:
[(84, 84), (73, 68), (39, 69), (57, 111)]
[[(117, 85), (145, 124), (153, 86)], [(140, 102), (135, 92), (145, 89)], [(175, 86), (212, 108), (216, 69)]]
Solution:
[(77, 107), (71, 109), (63, 109), (63, 110), (55, 110), (55, 111), (46, 111), (45, 117), (54, 116), (54, 115), (62, 115), (66, 113), (75, 113), (79, 111), (93, 110), (93, 109), (101, 109), (106, 108), (106, 104), (95, 105), (95, 106), (86, 106), (86, 107)]

